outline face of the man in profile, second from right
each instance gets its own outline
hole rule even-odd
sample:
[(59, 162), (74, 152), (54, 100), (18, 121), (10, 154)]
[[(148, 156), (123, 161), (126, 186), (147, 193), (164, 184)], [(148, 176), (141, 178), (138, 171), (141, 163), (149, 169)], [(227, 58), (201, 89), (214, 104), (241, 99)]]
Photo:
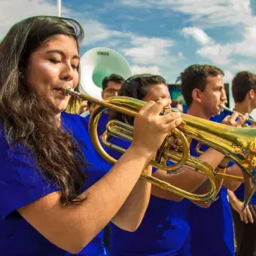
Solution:
[(224, 82), (221, 75), (209, 76), (206, 88), (200, 92), (200, 105), (209, 117), (220, 114), (221, 105), (227, 102)]

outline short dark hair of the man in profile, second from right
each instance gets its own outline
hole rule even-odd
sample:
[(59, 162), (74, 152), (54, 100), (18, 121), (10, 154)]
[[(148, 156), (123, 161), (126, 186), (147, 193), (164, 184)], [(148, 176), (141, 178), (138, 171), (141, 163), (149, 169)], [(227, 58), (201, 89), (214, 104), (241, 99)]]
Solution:
[(207, 77), (215, 77), (218, 75), (224, 76), (224, 72), (218, 67), (199, 64), (191, 65), (187, 67), (187, 69), (184, 69), (184, 72), (181, 72), (176, 80), (176, 83), (178, 81), (181, 82), (181, 93), (188, 108), (192, 103), (193, 90), (205, 90)]

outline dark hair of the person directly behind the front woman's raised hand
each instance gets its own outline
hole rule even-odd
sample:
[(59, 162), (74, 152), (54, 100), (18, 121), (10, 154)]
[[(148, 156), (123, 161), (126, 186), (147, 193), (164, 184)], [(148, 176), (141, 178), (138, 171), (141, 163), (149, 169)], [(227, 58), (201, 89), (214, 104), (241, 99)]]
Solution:
[[(118, 96), (143, 99), (147, 95), (148, 90), (157, 84), (166, 84), (166, 80), (160, 75), (133, 75), (124, 81), (119, 90)], [(119, 112), (111, 114), (111, 119), (120, 120), (122, 122), (130, 123), (130, 125), (133, 125), (133, 117), (127, 116), (126, 114), (121, 114)]]

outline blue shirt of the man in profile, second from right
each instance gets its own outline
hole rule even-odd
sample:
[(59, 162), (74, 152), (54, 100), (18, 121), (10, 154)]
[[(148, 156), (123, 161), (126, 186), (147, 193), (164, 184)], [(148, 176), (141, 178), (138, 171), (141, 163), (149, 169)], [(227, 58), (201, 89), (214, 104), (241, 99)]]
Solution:
[[(221, 122), (229, 115), (222, 112), (220, 116), (212, 117), (211, 120)], [(194, 157), (197, 142), (191, 142), (190, 154)], [(206, 151), (208, 147), (200, 148)], [(221, 187), (218, 199), (208, 209), (190, 203), (188, 210), (188, 222), (190, 224), (190, 252), (192, 256), (233, 256), (235, 255), (233, 243), (233, 221), (230, 204), (227, 200), (227, 188)]]

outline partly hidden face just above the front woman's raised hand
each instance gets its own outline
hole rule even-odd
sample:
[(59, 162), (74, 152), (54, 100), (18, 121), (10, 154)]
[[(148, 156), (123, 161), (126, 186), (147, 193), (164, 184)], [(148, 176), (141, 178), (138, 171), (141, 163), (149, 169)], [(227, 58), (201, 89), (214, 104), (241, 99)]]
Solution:
[(157, 84), (152, 87), (149, 87), (147, 95), (142, 99), (145, 102), (153, 100), (156, 102), (159, 99), (170, 99), (168, 87), (166, 84)]

